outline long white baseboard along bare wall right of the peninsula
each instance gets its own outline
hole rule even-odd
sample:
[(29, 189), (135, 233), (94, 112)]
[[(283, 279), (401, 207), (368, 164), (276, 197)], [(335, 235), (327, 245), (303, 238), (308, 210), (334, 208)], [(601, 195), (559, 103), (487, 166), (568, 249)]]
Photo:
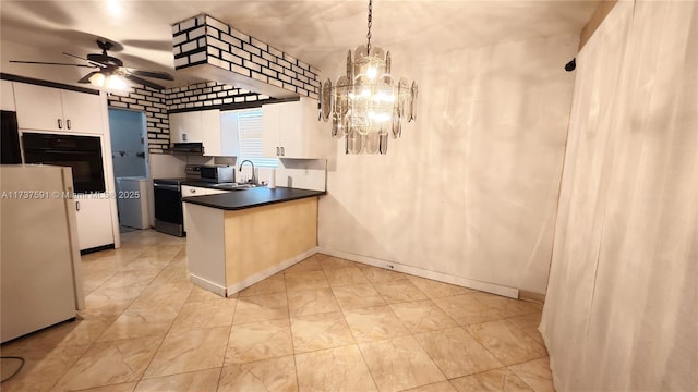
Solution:
[(322, 254), (325, 254), (325, 255), (340, 257), (340, 258), (344, 258), (344, 259), (347, 259), (347, 260), (357, 261), (357, 262), (365, 264), (365, 265), (373, 266), (373, 267), (378, 267), (378, 268), (383, 268), (383, 269), (387, 269), (387, 270), (404, 272), (404, 273), (408, 273), (408, 274), (411, 274), (411, 275), (416, 275), (416, 277), (420, 277), (420, 278), (426, 278), (426, 279), (431, 279), (431, 280), (435, 280), (435, 281), (440, 281), (440, 282), (444, 282), (444, 283), (449, 283), (449, 284), (455, 284), (455, 285), (459, 285), (459, 286), (464, 286), (464, 287), (468, 287), (468, 289), (479, 290), (479, 291), (482, 291), (482, 292), (492, 293), (492, 294), (496, 294), (496, 295), (502, 295), (502, 296), (506, 296), (506, 297), (509, 297), (509, 298), (518, 299), (518, 297), (519, 297), (518, 289), (507, 287), (507, 286), (503, 286), (503, 285), (500, 285), (500, 284), (494, 284), (494, 283), (489, 283), (489, 282), (481, 282), (481, 281), (460, 278), (460, 277), (454, 277), (454, 275), (449, 275), (449, 274), (446, 274), (446, 273), (429, 271), (429, 270), (425, 270), (425, 269), (411, 267), (411, 266), (405, 266), (405, 265), (401, 265), (401, 264), (398, 264), (398, 262), (395, 262), (395, 261), (382, 260), (382, 259), (377, 259), (377, 258), (373, 258), (373, 257), (351, 254), (351, 253), (348, 253), (348, 252), (328, 249), (328, 248), (325, 248), (325, 247), (320, 247), (317, 252), (322, 253)]

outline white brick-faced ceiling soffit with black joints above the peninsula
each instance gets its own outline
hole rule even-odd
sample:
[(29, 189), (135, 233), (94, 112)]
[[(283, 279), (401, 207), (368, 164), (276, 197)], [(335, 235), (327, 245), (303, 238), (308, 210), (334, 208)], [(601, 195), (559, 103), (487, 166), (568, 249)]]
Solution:
[(172, 50), (176, 70), (208, 64), (317, 99), (318, 70), (209, 15), (174, 24)]

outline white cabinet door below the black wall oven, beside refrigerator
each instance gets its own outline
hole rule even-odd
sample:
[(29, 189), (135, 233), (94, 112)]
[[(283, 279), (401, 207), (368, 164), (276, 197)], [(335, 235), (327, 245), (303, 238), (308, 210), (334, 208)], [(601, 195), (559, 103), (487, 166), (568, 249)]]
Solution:
[(75, 199), (77, 242), (81, 250), (113, 244), (110, 205), (106, 194), (85, 195)]

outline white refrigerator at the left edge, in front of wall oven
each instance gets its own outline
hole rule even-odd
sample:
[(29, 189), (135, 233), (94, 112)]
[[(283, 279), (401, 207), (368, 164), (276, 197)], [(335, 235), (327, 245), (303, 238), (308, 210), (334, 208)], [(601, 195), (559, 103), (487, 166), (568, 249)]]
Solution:
[(0, 166), (0, 343), (84, 307), (70, 168)]

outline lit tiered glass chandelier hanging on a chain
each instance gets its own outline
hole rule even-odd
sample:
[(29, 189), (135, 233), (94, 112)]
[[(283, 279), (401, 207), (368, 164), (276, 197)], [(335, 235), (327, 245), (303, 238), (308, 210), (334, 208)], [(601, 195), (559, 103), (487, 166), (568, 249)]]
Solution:
[(373, 2), (369, 0), (366, 45), (347, 54), (347, 74), (320, 87), (320, 118), (332, 120), (332, 135), (345, 137), (346, 154), (386, 154), (388, 135), (417, 120), (417, 83), (390, 74), (390, 52), (371, 46)]

